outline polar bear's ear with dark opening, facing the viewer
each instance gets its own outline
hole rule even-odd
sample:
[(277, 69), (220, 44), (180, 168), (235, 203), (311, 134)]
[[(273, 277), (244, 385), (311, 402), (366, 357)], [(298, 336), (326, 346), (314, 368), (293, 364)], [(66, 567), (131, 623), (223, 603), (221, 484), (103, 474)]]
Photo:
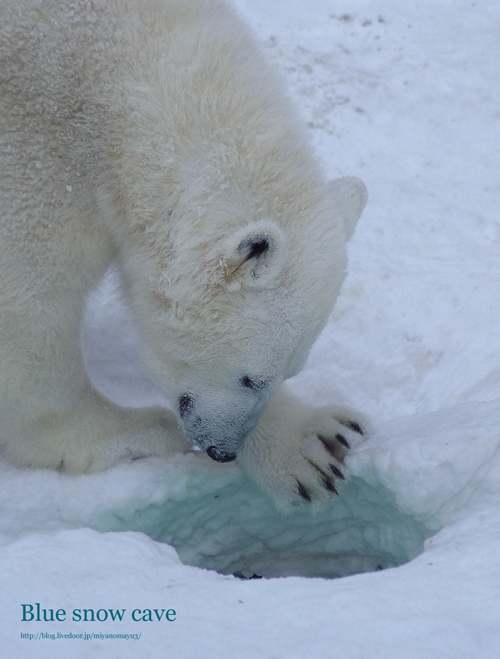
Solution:
[(285, 242), (283, 231), (271, 220), (253, 222), (233, 234), (224, 244), (228, 290), (271, 284), (283, 265)]

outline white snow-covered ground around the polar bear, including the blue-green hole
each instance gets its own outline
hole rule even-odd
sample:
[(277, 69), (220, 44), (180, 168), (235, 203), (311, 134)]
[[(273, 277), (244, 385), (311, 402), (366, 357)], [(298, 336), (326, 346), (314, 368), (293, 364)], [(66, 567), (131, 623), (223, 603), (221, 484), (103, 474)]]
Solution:
[[(293, 386), (362, 410), (372, 435), (314, 515), (280, 516), (235, 465), (199, 455), (78, 478), (0, 465), (0, 654), (497, 658), (500, 5), (237, 5), (327, 173), (370, 191), (332, 321)], [(84, 340), (108, 395), (162, 400), (112, 278)], [(37, 602), (67, 619), (21, 622)], [(126, 613), (73, 622), (76, 608)], [(131, 619), (148, 608), (176, 620)], [(21, 638), (42, 632), (141, 638)]]

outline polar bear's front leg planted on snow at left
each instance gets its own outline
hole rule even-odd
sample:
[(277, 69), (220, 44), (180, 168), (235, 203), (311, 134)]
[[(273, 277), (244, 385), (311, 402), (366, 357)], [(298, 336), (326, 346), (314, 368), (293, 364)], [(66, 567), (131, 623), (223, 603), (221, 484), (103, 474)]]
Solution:
[(16, 281), (15, 266), (3, 272), (11, 281), (0, 287), (0, 441), (12, 462), (83, 473), (191, 449), (171, 412), (121, 408), (90, 384), (78, 278), (69, 282), (68, 269), (53, 282)]

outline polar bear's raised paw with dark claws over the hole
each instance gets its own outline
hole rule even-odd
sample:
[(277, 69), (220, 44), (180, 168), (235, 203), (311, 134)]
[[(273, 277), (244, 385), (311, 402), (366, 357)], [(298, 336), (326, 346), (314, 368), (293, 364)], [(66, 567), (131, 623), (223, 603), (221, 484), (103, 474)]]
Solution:
[(280, 505), (324, 499), (344, 480), (344, 458), (363, 440), (366, 421), (339, 406), (313, 407), (285, 385), (246, 439), (238, 462)]

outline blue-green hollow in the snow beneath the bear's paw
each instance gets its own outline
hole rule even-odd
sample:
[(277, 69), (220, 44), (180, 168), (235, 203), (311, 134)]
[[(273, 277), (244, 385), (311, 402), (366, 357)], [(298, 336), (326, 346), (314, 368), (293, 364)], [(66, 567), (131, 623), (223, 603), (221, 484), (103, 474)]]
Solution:
[(317, 511), (304, 504), (288, 513), (242, 475), (221, 487), (209, 480), (208, 488), (193, 482), (182, 498), (130, 515), (114, 511), (98, 526), (141, 531), (172, 545), (186, 565), (247, 579), (331, 579), (396, 567), (436, 532), (402, 512), (385, 488), (357, 477)]

